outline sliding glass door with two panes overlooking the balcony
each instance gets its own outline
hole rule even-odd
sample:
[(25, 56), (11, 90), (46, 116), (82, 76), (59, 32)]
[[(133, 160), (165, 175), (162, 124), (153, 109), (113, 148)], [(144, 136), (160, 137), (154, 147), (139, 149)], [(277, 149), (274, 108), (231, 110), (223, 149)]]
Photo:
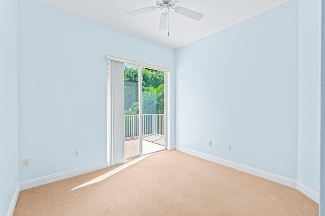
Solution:
[(124, 65), (125, 159), (166, 149), (165, 117), (165, 72)]

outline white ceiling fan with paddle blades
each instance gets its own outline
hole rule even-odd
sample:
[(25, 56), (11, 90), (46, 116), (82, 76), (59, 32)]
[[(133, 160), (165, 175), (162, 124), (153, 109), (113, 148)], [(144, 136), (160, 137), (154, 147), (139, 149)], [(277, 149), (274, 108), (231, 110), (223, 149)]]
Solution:
[(127, 17), (132, 17), (132, 16), (136, 16), (139, 14), (154, 11), (156, 9), (161, 9), (164, 12), (160, 15), (160, 22), (159, 22), (159, 28), (158, 28), (159, 31), (165, 31), (167, 28), (169, 9), (173, 9), (176, 13), (181, 14), (185, 17), (197, 20), (197, 21), (202, 19), (203, 14), (201, 14), (199, 12), (192, 11), (192, 10), (182, 8), (182, 7), (174, 8), (175, 4), (178, 3), (179, 1), (180, 0), (156, 0), (157, 7), (142, 8), (142, 9), (138, 9), (135, 11), (126, 12), (126, 13), (124, 13), (124, 15)]

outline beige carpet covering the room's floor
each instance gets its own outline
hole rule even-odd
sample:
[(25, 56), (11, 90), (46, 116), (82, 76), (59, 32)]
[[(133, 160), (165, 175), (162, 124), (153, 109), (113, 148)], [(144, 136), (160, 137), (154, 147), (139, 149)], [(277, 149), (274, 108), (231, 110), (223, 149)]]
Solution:
[(179, 151), (21, 191), (14, 215), (318, 215), (296, 189)]

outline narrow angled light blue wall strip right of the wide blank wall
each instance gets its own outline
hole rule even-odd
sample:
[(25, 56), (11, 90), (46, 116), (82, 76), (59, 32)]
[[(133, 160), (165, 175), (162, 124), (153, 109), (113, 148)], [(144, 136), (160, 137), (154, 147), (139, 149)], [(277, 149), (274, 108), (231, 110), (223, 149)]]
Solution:
[(319, 193), (321, 0), (299, 1), (298, 181)]

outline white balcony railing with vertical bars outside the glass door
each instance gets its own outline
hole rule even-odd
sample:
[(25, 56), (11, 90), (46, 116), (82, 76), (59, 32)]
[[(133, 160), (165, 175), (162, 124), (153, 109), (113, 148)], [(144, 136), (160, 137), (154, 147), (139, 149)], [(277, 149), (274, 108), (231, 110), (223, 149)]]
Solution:
[[(139, 115), (124, 115), (124, 138), (139, 136)], [(143, 114), (142, 135), (164, 136), (164, 114)]]

